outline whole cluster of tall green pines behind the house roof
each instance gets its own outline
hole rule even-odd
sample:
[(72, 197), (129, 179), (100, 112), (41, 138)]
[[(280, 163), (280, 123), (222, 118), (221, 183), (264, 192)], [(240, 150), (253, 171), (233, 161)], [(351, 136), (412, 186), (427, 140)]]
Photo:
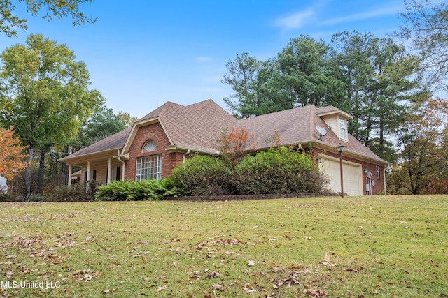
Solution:
[(304, 105), (333, 105), (352, 114), (349, 133), (388, 161), (388, 138), (406, 107), (426, 90), (416, 75), (418, 57), (391, 38), (353, 31), (331, 43), (293, 38), (275, 58), (258, 61), (248, 53), (229, 61), (223, 82), (234, 93), (225, 103), (240, 118)]

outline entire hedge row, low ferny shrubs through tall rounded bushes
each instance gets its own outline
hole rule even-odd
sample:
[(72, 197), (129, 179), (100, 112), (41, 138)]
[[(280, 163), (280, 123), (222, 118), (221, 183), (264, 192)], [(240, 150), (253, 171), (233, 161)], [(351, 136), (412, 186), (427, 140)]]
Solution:
[(319, 193), (325, 179), (311, 158), (286, 148), (246, 156), (235, 166), (214, 156), (193, 156), (161, 180), (113, 181), (97, 200), (164, 200), (177, 196)]

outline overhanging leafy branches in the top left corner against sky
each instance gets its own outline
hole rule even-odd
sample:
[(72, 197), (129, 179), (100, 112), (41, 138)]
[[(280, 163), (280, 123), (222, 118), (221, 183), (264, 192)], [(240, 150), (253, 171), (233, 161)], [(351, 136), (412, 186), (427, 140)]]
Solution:
[[(52, 20), (52, 17), (61, 19), (62, 17), (71, 16), (73, 25), (85, 24), (85, 22), (93, 24), (97, 18), (86, 17), (80, 11), (80, 4), (90, 3), (92, 0), (18, 0), (25, 3), (27, 12), (31, 15), (38, 15), (39, 11), (46, 8), (46, 14), (43, 16), (46, 20)], [(10, 0), (0, 0), (0, 31), (6, 36), (18, 36), (15, 28), (27, 30), (27, 20), (14, 14), (15, 5)]]

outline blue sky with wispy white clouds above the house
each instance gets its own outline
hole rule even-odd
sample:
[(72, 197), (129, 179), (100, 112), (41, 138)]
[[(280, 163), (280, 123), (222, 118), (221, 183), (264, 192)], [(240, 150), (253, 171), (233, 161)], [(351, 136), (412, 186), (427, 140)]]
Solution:
[[(125, 4), (124, 4), (125, 3)], [(225, 64), (248, 52), (276, 56), (290, 38), (329, 42), (356, 30), (387, 37), (398, 29), (402, 0), (93, 0), (83, 12), (99, 21), (73, 27), (71, 19), (27, 17), (19, 38), (0, 36), (0, 50), (28, 34), (64, 43), (84, 61), (91, 88), (114, 112), (143, 117), (167, 101), (189, 105), (209, 98), (227, 109), (232, 92), (221, 83)], [(42, 15), (42, 13), (41, 13)]]

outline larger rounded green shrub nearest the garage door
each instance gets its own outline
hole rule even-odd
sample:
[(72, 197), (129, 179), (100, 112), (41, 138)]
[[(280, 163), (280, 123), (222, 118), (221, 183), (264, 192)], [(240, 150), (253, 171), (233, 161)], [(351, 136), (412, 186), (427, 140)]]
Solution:
[(232, 180), (239, 194), (318, 193), (323, 177), (311, 158), (286, 148), (246, 156)]

